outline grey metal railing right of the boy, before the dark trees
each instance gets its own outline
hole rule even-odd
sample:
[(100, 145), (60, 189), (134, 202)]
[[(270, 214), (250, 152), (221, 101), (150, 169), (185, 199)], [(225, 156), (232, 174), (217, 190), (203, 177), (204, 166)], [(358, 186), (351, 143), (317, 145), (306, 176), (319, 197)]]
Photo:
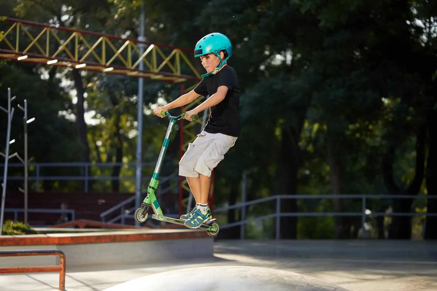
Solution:
[[(292, 213), (281, 213), (281, 199), (361, 199), (361, 212), (292, 212)], [(234, 226), (241, 226), (240, 228), (240, 239), (244, 239), (245, 236), (245, 226), (247, 223), (265, 220), (268, 218), (275, 218), (275, 233), (276, 240), (280, 238), (281, 229), (281, 217), (314, 217), (314, 216), (361, 216), (361, 228), (362, 228), (362, 239), (365, 238), (365, 225), (366, 218), (368, 216), (437, 216), (437, 213), (417, 213), (417, 212), (370, 212), (366, 208), (367, 199), (437, 199), (437, 195), (368, 195), (368, 194), (327, 194), (327, 195), (274, 195), (265, 198), (260, 198), (248, 202), (239, 202), (234, 205), (229, 205), (226, 207), (215, 209), (215, 213), (229, 211), (230, 209), (240, 209), (244, 210), (246, 206), (255, 205), (259, 203), (265, 203), (269, 201), (276, 200), (276, 211), (273, 214), (255, 217), (253, 219), (245, 219), (245, 211), (242, 211), (241, 221), (235, 223), (228, 223), (226, 225), (220, 226), (220, 229), (231, 228)]]

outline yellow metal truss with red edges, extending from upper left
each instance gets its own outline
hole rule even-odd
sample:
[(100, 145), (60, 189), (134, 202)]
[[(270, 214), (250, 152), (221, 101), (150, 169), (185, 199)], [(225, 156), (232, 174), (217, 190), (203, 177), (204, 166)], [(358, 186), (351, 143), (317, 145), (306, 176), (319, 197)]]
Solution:
[[(174, 83), (201, 79), (182, 48), (6, 17), (2, 20), (0, 58)], [(140, 46), (144, 46), (142, 54)], [(139, 70), (142, 61), (145, 68)]]

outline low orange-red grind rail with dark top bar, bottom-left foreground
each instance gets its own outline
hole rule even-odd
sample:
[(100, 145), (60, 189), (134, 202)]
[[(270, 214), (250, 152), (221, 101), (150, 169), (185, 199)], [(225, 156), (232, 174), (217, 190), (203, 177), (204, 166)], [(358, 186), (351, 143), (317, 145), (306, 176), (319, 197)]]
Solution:
[(65, 254), (61, 250), (3, 250), (0, 257), (58, 256), (58, 266), (0, 267), (0, 274), (59, 272), (59, 290), (65, 291)]

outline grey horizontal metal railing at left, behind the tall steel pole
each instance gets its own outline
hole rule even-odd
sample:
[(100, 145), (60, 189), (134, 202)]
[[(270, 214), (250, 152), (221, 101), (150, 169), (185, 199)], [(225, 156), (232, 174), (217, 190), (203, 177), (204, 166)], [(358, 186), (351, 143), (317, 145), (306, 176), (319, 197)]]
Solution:
[[(155, 162), (145, 162), (142, 163), (142, 167), (154, 167)], [(82, 162), (73, 162), (73, 163), (30, 163), (28, 165), (29, 167), (29, 174), (28, 174), (28, 180), (29, 181), (35, 181), (35, 191), (38, 192), (39, 189), (39, 183), (40, 181), (85, 181), (83, 190), (85, 192), (88, 192), (88, 181), (134, 181), (135, 180), (135, 173), (133, 173), (132, 176), (93, 176), (90, 175), (90, 168), (92, 167), (104, 167), (104, 168), (112, 168), (115, 166), (120, 167), (135, 167), (136, 163), (82, 163)], [(21, 163), (8, 163), (8, 167), (23, 167), (23, 164)], [(83, 175), (80, 176), (43, 176), (41, 175), (41, 169), (42, 168), (82, 168)], [(0, 164), (0, 168), (4, 168), (4, 164)], [(151, 169), (151, 172), (153, 172), (153, 168)], [(173, 176), (173, 175), (171, 175)], [(152, 177), (143, 176), (142, 181), (148, 182)], [(24, 181), (24, 176), (11, 176), (9, 175), (7, 177), (8, 181)]]

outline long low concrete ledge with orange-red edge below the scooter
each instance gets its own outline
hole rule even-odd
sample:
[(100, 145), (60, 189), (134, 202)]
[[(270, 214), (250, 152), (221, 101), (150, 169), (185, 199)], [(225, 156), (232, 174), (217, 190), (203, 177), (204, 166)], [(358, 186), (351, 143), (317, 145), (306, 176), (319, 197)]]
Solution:
[[(0, 250), (62, 250), (66, 266), (144, 264), (213, 256), (213, 238), (203, 230), (138, 229), (89, 233), (49, 233), (2, 236)], [(201, 246), (201, 247), (197, 247)], [(49, 266), (56, 256), (3, 257), (0, 267)]]

